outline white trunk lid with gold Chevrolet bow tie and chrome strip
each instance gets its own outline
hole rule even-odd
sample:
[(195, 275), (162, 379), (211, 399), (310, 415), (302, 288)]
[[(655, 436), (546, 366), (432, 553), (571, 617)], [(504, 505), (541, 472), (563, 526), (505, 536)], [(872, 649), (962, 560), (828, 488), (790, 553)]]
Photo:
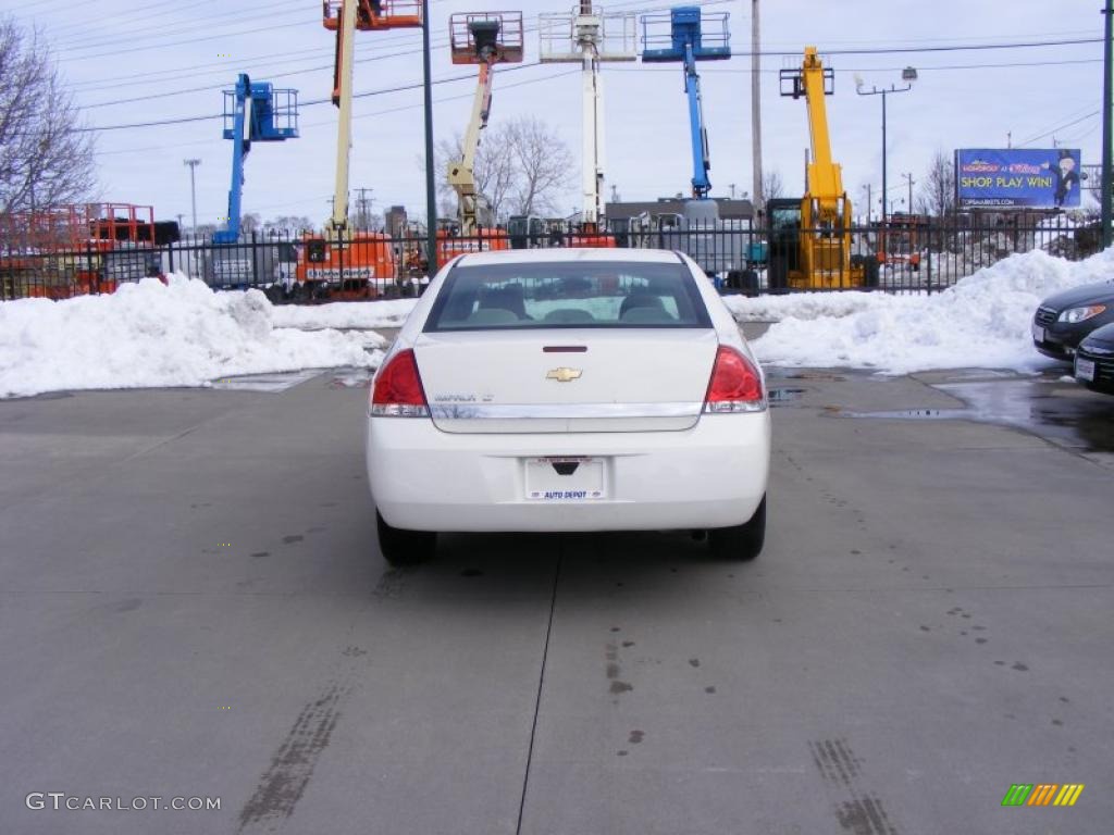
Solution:
[(414, 356), (446, 432), (676, 431), (700, 420), (717, 345), (707, 328), (451, 332)]

